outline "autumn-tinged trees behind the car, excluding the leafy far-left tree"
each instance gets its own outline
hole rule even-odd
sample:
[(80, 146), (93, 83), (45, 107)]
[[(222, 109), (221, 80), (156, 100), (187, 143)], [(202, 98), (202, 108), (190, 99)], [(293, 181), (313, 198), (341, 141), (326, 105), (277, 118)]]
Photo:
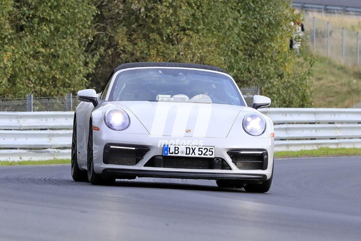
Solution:
[(219, 66), (240, 87), (260, 86), (273, 107), (312, 105), (313, 58), (289, 50), (291, 22), (301, 16), (288, 0), (104, 0), (96, 7), (90, 51), (102, 51), (91, 75), (99, 91), (119, 64), (172, 61)]

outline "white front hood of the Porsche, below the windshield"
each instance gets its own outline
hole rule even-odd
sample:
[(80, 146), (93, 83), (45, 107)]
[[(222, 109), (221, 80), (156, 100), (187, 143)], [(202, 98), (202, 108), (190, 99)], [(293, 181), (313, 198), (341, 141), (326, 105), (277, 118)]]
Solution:
[(225, 138), (244, 106), (213, 103), (121, 101), (151, 135)]

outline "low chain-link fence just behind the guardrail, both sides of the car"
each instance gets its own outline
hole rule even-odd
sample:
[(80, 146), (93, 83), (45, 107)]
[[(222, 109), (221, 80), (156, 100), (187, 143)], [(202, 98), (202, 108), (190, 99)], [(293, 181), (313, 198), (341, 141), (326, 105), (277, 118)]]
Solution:
[[(258, 87), (240, 88), (248, 106), (253, 104), (253, 96), (260, 94)], [(32, 97), (0, 99), (0, 111), (74, 111), (80, 100), (71, 94), (64, 97)]]

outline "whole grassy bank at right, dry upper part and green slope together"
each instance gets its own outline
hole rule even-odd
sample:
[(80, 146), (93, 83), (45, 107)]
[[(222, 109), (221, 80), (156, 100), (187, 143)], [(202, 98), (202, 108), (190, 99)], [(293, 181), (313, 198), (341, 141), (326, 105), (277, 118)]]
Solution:
[[(354, 107), (361, 102), (361, 66), (356, 64), (355, 33), (361, 33), (361, 17), (305, 13), (304, 25), (309, 35), (313, 34), (313, 16), (316, 17), (317, 55), (311, 70), (314, 107)], [(327, 58), (327, 22), (330, 22), (330, 58)], [(345, 60), (342, 59), (342, 27), (346, 29)], [(312, 49), (312, 37), (308, 44)]]

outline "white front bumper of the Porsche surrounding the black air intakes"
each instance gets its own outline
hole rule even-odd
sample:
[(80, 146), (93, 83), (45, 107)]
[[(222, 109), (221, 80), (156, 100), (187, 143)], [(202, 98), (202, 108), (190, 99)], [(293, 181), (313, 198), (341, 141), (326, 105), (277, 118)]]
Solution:
[[(201, 143), (204, 146), (215, 146), (217, 158), (224, 159), (230, 170), (219, 169), (185, 169), (145, 167), (153, 156), (162, 155), (162, 145), (165, 142)], [(104, 146), (107, 143), (142, 145), (149, 148), (143, 159), (135, 165), (114, 165), (103, 163)], [(149, 134), (124, 134), (93, 131), (94, 171), (107, 176), (138, 176), (138, 177), (167, 177), (190, 179), (240, 179), (263, 181), (271, 177), (273, 168), (274, 138), (202, 138), (202, 137), (171, 137), (153, 136)], [(227, 151), (236, 149), (265, 149), (268, 152), (268, 166), (265, 170), (241, 170), (232, 162)]]

